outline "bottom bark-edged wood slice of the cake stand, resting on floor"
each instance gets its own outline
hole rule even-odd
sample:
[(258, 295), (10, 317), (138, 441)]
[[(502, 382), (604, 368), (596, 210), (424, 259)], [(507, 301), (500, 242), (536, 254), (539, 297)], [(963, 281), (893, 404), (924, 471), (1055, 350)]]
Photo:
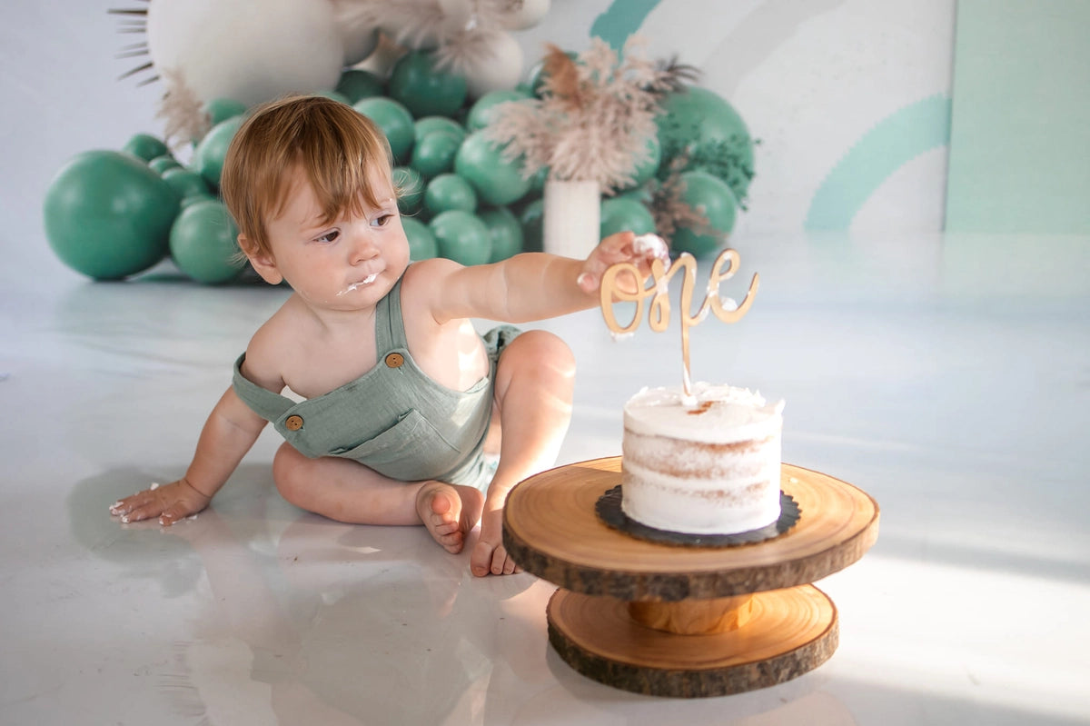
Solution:
[(572, 668), (614, 688), (674, 698), (741, 693), (797, 678), (833, 655), (836, 607), (813, 585), (755, 593), (746, 625), (683, 636), (634, 621), (628, 603), (557, 590), (549, 642)]

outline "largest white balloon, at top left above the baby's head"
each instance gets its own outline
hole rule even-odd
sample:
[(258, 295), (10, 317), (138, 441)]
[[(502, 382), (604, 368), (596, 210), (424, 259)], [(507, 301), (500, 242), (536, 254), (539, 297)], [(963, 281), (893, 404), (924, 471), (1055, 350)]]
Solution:
[(247, 106), (332, 88), (344, 63), (328, 0), (155, 0), (147, 45), (156, 71), (179, 74), (199, 99)]

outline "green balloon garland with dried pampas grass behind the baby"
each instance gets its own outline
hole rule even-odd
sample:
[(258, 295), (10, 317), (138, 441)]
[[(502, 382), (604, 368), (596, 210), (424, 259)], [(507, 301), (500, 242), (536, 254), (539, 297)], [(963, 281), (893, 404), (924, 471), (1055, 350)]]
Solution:
[[(149, 10), (172, 12), (169, 4), (174, 1), (154, 0)], [(221, 9), (241, 1), (214, 4), (216, 12), (226, 12)], [(290, 1), (277, 0), (286, 5)], [(590, 76), (633, 77), (625, 63), (638, 58), (640, 40), (632, 41), (633, 52), (623, 62), (597, 44), (583, 53), (554, 49), (524, 83), (476, 95), (474, 80), (453, 70), (473, 57), (470, 32), (481, 27), (487, 32), (484, 37), (495, 37), (488, 34), (528, 27), (547, 11), (547, 0), (326, 1), (332, 4), (329, 16), (351, 16), (358, 28), (377, 28), (368, 60), (389, 62), (385, 72), (366, 62), (340, 68), (312, 90), (370, 116), (389, 138), (411, 257), (446, 256), (471, 265), (541, 250), (544, 181), (550, 174), (571, 173), (574, 167), (562, 156), (530, 149), (520, 119), (528, 110), (544, 117), (557, 105), (570, 104), (565, 94), (580, 83), (580, 93), (590, 93)], [(451, 17), (461, 20), (452, 26)], [(140, 19), (126, 16), (125, 22), (132, 25)], [(391, 38), (419, 47), (397, 46), (391, 53)], [(425, 40), (434, 48), (425, 49)], [(346, 47), (347, 40), (338, 53)], [(447, 48), (446, 55), (440, 48)], [(164, 56), (157, 50), (155, 57)], [(340, 58), (336, 65), (344, 62)], [(753, 177), (753, 142), (726, 101), (692, 85), (693, 69), (674, 61), (644, 63), (641, 69), (646, 73), (635, 74), (642, 85), (632, 97), (640, 99), (643, 117), (633, 132), (618, 134), (601, 121), (591, 122), (600, 136), (619, 140), (620, 153), (589, 153), (592, 146), (570, 138), (560, 148), (582, 164), (609, 171), (603, 177), (605, 198), (600, 198), (602, 237), (623, 229), (657, 232), (671, 241), (675, 252), (708, 254), (731, 231), (738, 208), (744, 208)], [(172, 71), (154, 63), (143, 70), (172, 77)], [(620, 75), (610, 75), (616, 73)], [(221, 75), (246, 74), (243, 68)], [(179, 81), (165, 98), (198, 118), (201, 133), (192, 145), (179, 144), (184, 137), (181, 126), (168, 119), (161, 136), (135, 134), (120, 149), (85, 152), (58, 171), (43, 211), (47, 240), (66, 266), (94, 279), (113, 280), (170, 258), (199, 283), (240, 279), (245, 262), (218, 186), (227, 147), (251, 105), (226, 95), (203, 98), (197, 88), (211, 92), (196, 83), (191, 88)], [(632, 109), (621, 101), (615, 110), (625, 116)], [(557, 138), (548, 143), (555, 145)]]

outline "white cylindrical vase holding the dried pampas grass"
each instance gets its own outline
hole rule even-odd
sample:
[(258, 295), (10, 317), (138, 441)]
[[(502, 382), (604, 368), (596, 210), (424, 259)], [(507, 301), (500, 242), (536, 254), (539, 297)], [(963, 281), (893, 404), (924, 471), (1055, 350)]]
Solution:
[(602, 191), (596, 181), (545, 182), (542, 247), (562, 257), (585, 259), (597, 246)]

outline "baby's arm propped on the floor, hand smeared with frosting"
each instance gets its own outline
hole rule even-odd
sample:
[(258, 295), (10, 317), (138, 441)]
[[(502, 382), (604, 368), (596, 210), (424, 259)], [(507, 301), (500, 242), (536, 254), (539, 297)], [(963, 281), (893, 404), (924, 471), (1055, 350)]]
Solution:
[(122, 522), (153, 517), (170, 525), (205, 507), (257, 440), (265, 420), (252, 412), (234, 394), (227, 392), (213, 409), (197, 440), (196, 453), (185, 476), (165, 486), (137, 492), (116, 501), (110, 513)]

